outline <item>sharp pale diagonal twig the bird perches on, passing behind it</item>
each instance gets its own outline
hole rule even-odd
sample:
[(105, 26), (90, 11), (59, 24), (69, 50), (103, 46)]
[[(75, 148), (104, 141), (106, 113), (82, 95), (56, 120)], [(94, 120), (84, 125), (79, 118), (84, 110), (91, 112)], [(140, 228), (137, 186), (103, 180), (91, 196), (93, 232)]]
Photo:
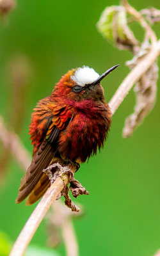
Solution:
[[(131, 90), (134, 83), (140, 79), (140, 77), (147, 71), (147, 69), (152, 65), (152, 63), (157, 59), (160, 53), (160, 40), (156, 42), (156, 44), (152, 45), (150, 52), (138, 63), (136, 67), (132, 69), (129, 75), (124, 79), (122, 84), (119, 86), (118, 90), (116, 91), (115, 95), (109, 102), (109, 106), (111, 108), (112, 114), (115, 113), (116, 109), (122, 101), (124, 100), (125, 96)], [(56, 182), (56, 183), (55, 183)], [(63, 182), (60, 177), (56, 179), (54, 184), (52, 184), (51, 188), (47, 190), (42, 200), (36, 206), (35, 211), (29, 217), (26, 225), (22, 229), (17, 241), (12, 248), (12, 252), (10, 256), (22, 256), (25, 252), (29, 241), (31, 241), (32, 237), (34, 236), (36, 229), (40, 225), (40, 222), (43, 220), (45, 213), (51, 206), (52, 202), (56, 200), (57, 196), (65, 187), (67, 182)], [(58, 184), (58, 188), (57, 188)], [(58, 191), (57, 191), (58, 189)], [(61, 190), (60, 190), (61, 189)]]

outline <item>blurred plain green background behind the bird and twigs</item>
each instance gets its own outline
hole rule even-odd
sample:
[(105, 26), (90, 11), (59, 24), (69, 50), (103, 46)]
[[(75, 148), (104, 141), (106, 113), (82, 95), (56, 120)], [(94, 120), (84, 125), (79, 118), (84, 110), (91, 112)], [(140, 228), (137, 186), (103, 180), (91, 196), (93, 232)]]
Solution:
[[(157, 0), (130, 3), (137, 10), (147, 6), (159, 8)], [(9, 123), (13, 106), (6, 67), (13, 56), (22, 54), (28, 58), (32, 74), (19, 136), (29, 152), (32, 147), (28, 127), (33, 108), (38, 100), (51, 94), (54, 84), (68, 69), (88, 65), (101, 74), (120, 63), (118, 70), (102, 82), (108, 101), (129, 72), (125, 61), (131, 60), (131, 53), (113, 48), (95, 26), (106, 5), (112, 4), (119, 3), (17, 1), (17, 8), (1, 20), (0, 114)], [(142, 30), (136, 26), (134, 29), (142, 38)], [(159, 29), (160, 26), (155, 26), (157, 35)], [(132, 113), (134, 100), (134, 93), (130, 92), (113, 116), (104, 149), (76, 173), (76, 179), (90, 191), (90, 196), (76, 200), (84, 207), (84, 216), (74, 220), (80, 255), (151, 256), (160, 248), (160, 95), (158, 92), (152, 113), (132, 138), (125, 140), (122, 128), (127, 115)], [(0, 188), (0, 230), (12, 242), (35, 208), (15, 204), (22, 174), (12, 159)], [(46, 237), (43, 221), (31, 244), (45, 246)], [(62, 244), (56, 251), (65, 255), (65, 246)]]

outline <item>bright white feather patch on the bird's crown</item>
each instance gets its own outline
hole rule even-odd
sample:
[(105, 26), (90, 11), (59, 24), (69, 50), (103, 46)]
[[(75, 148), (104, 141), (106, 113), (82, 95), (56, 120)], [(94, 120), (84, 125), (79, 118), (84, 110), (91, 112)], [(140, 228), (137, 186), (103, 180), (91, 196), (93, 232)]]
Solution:
[(93, 68), (83, 66), (81, 68), (77, 68), (74, 76), (71, 76), (71, 79), (76, 82), (76, 84), (80, 86), (85, 86), (85, 84), (92, 84), (97, 78), (99, 74), (93, 70)]

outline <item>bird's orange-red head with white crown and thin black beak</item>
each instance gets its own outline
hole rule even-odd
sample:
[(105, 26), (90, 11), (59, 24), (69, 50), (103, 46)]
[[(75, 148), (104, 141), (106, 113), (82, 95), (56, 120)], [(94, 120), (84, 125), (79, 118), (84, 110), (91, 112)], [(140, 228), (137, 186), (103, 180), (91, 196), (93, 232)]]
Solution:
[(101, 76), (93, 68), (86, 66), (69, 70), (56, 84), (53, 95), (78, 102), (83, 99), (104, 100), (100, 81), (116, 67), (118, 65), (109, 68)]

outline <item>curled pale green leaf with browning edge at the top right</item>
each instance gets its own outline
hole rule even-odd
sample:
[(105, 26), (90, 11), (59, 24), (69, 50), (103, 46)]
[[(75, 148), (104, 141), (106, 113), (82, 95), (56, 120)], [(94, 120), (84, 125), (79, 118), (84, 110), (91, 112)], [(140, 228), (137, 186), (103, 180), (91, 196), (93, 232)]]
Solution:
[(138, 41), (127, 25), (127, 13), (123, 6), (107, 7), (100, 16), (97, 28), (119, 49), (135, 51), (134, 48), (138, 46)]

